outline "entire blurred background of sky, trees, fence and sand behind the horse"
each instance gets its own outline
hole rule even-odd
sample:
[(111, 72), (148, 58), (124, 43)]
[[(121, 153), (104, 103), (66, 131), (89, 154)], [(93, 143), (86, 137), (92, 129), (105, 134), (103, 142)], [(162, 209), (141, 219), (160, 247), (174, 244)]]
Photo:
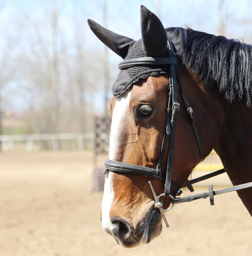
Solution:
[[(140, 4), (165, 27), (252, 41), (249, 0), (0, 0), (1, 256), (252, 255), (251, 217), (236, 193), (215, 207), (174, 207), (171, 228), (136, 249), (100, 227), (107, 102), (120, 57), (87, 18), (137, 40)], [(221, 167), (213, 152), (192, 177)], [(230, 185), (225, 175), (212, 182)]]

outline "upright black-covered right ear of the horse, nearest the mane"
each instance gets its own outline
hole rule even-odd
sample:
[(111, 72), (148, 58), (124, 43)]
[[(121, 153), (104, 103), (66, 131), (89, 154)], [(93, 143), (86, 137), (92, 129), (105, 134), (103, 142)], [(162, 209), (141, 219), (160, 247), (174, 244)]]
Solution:
[(143, 51), (152, 57), (166, 55), (167, 35), (160, 19), (141, 5), (141, 34)]

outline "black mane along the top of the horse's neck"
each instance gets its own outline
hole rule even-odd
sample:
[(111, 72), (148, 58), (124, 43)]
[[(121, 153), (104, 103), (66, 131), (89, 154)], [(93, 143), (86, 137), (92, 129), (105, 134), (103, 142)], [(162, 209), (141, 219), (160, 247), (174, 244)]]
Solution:
[(197, 73), (206, 88), (223, 93), (229, 102), (252, 106), (252, 46), (223, 36), (184, 28), (168, 28), (183, 64)]

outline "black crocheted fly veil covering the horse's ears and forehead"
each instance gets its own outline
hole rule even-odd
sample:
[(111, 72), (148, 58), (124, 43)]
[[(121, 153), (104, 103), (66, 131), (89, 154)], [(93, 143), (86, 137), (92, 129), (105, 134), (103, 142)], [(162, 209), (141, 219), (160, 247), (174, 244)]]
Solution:
[[(167, 35), (158, 17), (141, 6), (141, 35), (142, 38), (135, 41), (122, 35), (118, 35), (93, 20), (88, 20), (89, 27), (94, 34), (107, 47), (112, 49), (124, 60), (141, 57), (168, 57)], [(143, 64), (124, 68), (120, 71), (114, 85), (113, 95), (117, 98), (130, 90), (140, 79), (149, 76), (158, 76), (169, 72), (169, 65), (151, 66)]]

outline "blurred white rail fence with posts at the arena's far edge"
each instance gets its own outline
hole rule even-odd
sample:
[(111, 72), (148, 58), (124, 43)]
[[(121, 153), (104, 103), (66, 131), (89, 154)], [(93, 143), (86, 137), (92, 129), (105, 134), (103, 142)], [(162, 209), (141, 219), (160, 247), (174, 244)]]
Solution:
[[(105, 138), (105, 134), (103, 135)], [(103, 137), (102, 136), (102, 137)], [(63, 134), (23, 134), (23, 135), (0, 135), (2, 151), (6, 152), (14, 147), (14, 143), (23, 142), (26, 144), (26, 151), (32, 151), (34, 143), (37, 141), (49, 141), (52, 145), (52, 150), (60, 149), (60, 140), (75, 140), (78, 150), (85, 150), (85, 140), (94, 140), (94, 133), (63, 133)]]

